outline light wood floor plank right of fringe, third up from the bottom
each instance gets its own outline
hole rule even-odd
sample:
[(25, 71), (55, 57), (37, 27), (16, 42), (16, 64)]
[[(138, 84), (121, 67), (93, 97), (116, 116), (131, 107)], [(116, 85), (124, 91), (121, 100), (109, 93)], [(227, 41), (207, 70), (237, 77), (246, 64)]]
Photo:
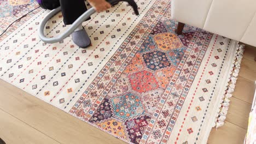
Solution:
[(254, 91), (255, 91), (254, 82), (247, 80), (241, 76), (238, 76), (233, 97), (246, 101), (249, 104), (252, 104)]

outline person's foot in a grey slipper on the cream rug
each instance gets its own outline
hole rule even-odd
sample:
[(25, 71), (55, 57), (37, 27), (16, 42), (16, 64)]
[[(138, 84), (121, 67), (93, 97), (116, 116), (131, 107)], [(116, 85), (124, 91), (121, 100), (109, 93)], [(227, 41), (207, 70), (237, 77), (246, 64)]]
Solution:
[(76, 45), (82, 48), (86, 48), (91, 45), (91, 40), (83, 26), (75, 29), (75, 31), (72, 33), (72, 39)]

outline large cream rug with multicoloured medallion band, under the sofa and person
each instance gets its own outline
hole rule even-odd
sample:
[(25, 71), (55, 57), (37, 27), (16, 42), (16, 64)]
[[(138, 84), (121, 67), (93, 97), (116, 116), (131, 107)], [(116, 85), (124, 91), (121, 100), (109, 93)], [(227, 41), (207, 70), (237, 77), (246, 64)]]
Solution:
[[(92, 46), (45, 44), (40, 10), (0, 43), (1, 79), (128, 143), (206, 143), (223, 125), (242, 58), (237, 42), (185, 26), (170, 1), (137, 0), (84, 22)], [(48, 37), (67, 28), (56, 15)]]

